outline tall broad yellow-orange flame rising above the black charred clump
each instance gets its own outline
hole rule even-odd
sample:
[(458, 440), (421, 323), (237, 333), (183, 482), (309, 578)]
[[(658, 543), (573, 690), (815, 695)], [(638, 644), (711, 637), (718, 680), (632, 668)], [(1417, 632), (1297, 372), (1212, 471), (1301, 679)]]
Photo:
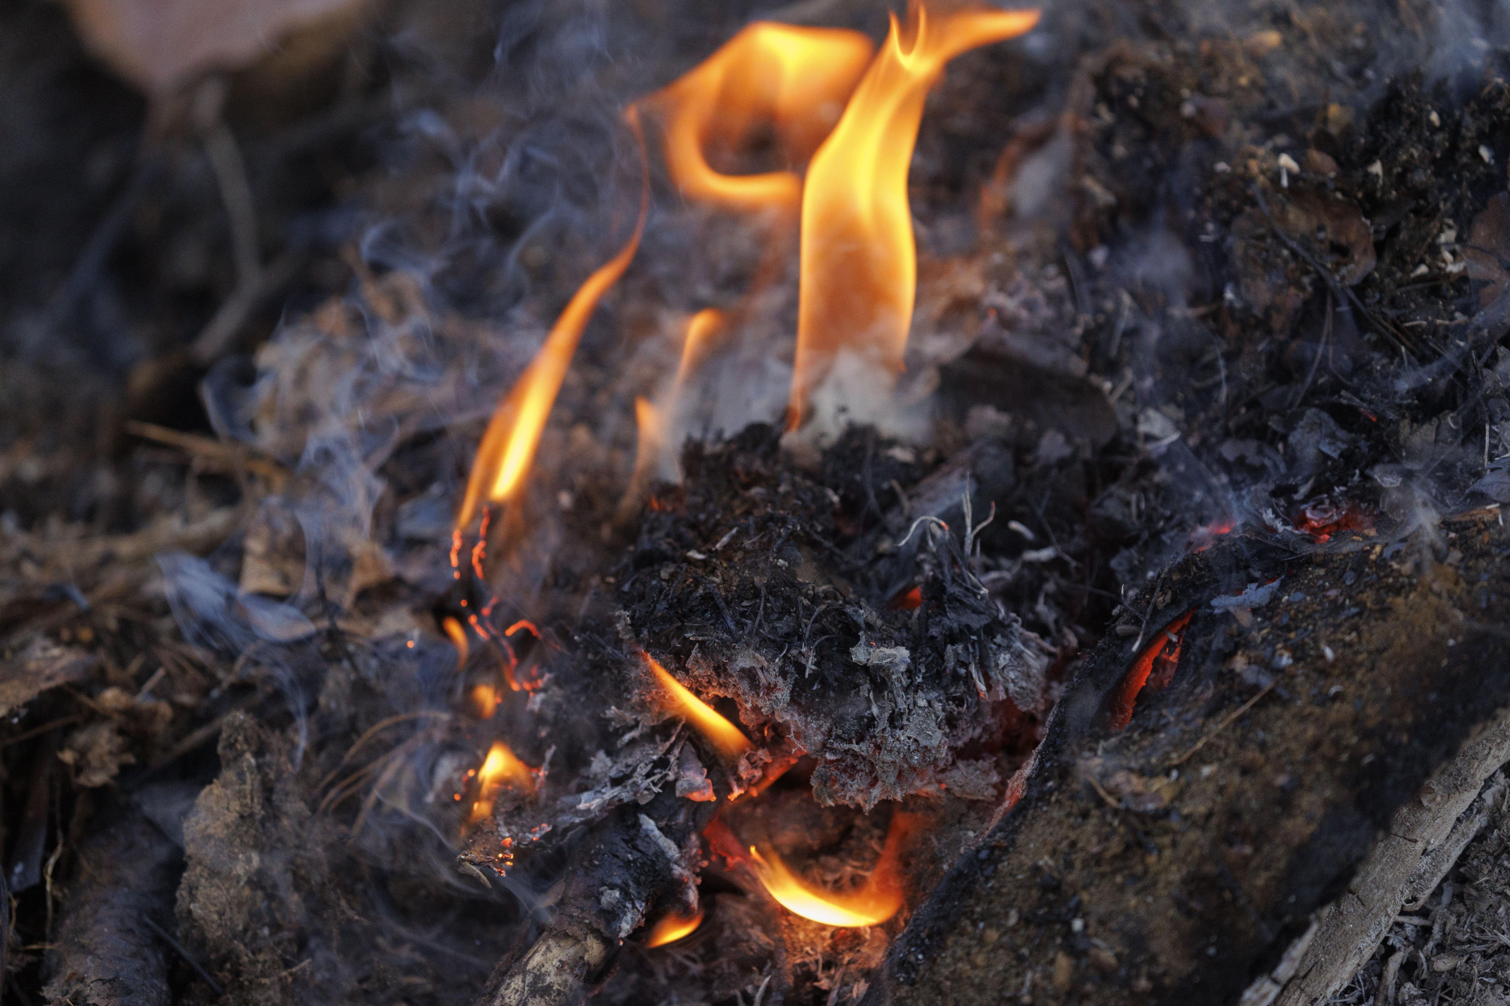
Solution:
[(880, 53), (808, 166), (791, 428), (841, 350), (901, 371), (918, 281), (908, 166), (923, 103), (944, 63), (1022, 35), (1037, 20), (1037, 11), (930, 17), (915, 3), (903, 39), (892, 15)]

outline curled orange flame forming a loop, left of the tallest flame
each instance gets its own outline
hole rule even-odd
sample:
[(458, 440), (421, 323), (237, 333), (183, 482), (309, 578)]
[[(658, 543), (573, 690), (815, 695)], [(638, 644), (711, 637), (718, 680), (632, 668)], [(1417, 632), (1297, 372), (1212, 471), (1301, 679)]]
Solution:
[(840, 119), (873, 48), (844, 29), (770, 21), (744, 27), (649, 98), (664, 113), (666, 167), (676, 187), (731, 210), (796, 213), (802, 179), (794, 172), (725, 175), (705, 151), (734, 151), (766, 127), (787, 164), (806, 161)]

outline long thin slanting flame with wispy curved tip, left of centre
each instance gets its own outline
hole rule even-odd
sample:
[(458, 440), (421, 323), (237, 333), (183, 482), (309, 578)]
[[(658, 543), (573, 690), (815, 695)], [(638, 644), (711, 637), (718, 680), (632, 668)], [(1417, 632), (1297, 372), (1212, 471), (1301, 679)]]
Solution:
[(642, 169), (640, 211), (634, 222), (634, 232), (618, 255), (599, 265), (577, 288), (577, 293), (566, 303), (566, 309), (556, 318), (556, 326), (545, 338), (539, 353), (498, 403), (492, 419), (488, 421), (482, 443), (477, 446), (471, 475), (467, 478), (467, 493), (456, 516), (458, 528), (471, 523), (483, 498), (489, 502), (504, 502), (512, 499), (522, 486), (524, 477), (528, 475), (535, 462), (541, 433), (545, 431), (545, 419), (551, 413), (551, 406), (556, 404), (556, 395), (566, 377), (566, 368), (571, 367), (571, 357), (577, 353), (577, 341), (581, 338), (583, 329), (587, 327), (587, 318), (592, 317), (602, 294), (619, 282), (619, 276), (630, 267), (630, 259), (634, 258), (634, 252), (640, 246), (645, 217), (649, 213), (649, 164), (645, 160), (640, 119), (634, 106), (625, 110), (625, 119), (639, 143)]

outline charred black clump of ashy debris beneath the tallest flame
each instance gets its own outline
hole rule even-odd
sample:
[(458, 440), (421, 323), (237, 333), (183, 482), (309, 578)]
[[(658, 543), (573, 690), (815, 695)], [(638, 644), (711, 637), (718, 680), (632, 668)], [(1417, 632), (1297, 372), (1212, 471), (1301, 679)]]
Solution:
[[(817, 759), (821, 802), (868, 810), (947, 787), (966, 745), (1000, 745), (988, 724), (1045, 704), (1051, 650), (972, 572), (965, 549), (978, 525), (954, 531), (915, 510), (892, 514), (895, 529), (877, 520), (915, 487), (921, 466), (906, 455), (873, 433), (826, 454), (824, 472), (873, 468), (868, 487), (885, 486), (859, 517), (877, 526), (844, 534), (840, 493), (784, 460), (775, 430), (693, 446), (684, 486), (652, 505), (622, 570), (642, 646), (675, 661), (699, 694), (735, 700), (749, 730), (775, 730)], [(980, 471), (985, 483), (1000, 478)], [(963, 498), (969, 520), (969, 489)], [(933, 505), (927, 489), (918, 501)]]

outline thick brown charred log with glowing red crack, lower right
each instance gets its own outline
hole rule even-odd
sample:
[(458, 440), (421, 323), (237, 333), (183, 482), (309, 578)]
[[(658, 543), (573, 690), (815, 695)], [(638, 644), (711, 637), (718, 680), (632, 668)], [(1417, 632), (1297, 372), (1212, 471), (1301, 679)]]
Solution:
[[(1166, 570), (1119, 612), (1021, 801), (912, 917), (865, 1001), (1271, 1000), (1317, 914), (1382, 876), (1359, 867), (1433, 772), (1456, 771), (1472, 799), (1499, 760), (1481, 730), (1510, 704), (1496, 517), (1291, 552), (1228, 540)], [(1187, 615), (1169, 686), (1145, 688), (1116, 730), (1129, 668)], [(1466, 801), (1436, 802), (1450, 828)]]

